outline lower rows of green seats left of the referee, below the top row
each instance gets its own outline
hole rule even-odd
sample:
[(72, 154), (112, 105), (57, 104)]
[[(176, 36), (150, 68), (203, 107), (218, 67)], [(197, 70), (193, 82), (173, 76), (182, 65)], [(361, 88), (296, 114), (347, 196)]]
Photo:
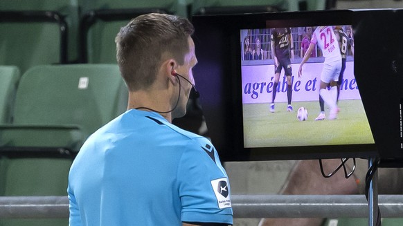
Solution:
[[(0, 66), (0, 196), (66, 196), (84, 140), (127, 107), (116, 64)], [(94, 169), (97, 170), (97, 169)], [(68, 225), (0, 219), (0, 225)]]

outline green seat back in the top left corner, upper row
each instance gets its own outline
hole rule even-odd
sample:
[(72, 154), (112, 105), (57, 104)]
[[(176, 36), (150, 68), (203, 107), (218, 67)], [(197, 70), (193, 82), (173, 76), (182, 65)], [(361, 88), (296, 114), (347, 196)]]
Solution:
[(67, 26), (52, 11), (0, 11), (0, 64), (24, 73), (38, 64), (67, 62)]

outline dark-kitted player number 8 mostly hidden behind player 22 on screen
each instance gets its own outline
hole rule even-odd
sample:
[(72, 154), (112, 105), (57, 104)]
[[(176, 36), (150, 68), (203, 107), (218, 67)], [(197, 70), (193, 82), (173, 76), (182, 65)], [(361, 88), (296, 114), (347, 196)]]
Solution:
[[(346, 34), (346, 32), (344, 32), (341, 26), (336, 26), (334, 28), (334, 35), (336, 35), (337, 41), (339, 41), (340, 54), (341, 54), (341, 70), (339, 75), (339, 81), (337, 82), (337, 102), (338, 102), (340, 95), (340, 86), (341, 82), (343, 82), (344, 70), (346, 70), (347, 50), (351, 44), (348, 35)], [(315, 118), (315, 121), (325, 120), (326, 118), (325, 102), (323, 101), (321, 95), (319, 95), (319, 106), (321, 107), (321, 113), (319, 113), (318, 117)]]

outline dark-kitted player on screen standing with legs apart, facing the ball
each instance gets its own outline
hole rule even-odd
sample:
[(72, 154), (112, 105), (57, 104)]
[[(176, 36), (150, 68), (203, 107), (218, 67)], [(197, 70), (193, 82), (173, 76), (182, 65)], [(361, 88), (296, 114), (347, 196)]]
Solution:
[(284, 68), (284, 75), (287, 77), (287, 111), (292, 112), (292, 68), (291, 60), (294, 59), (294, 44), (291, 28), (274, 28), (271, 31), (271, 53), (274, 58), (276, 73), (274, 75), (273, 96), (271, 98), (270, 112), (274, 112), (274, 100), (276, 100), (277, 86), (281, 70)]

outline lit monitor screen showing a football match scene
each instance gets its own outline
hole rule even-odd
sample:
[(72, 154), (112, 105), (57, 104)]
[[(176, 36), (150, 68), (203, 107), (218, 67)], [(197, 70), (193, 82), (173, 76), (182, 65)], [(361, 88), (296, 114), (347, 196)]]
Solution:
[[(352, 26), (278, 25), (267, 21), (267, 28), (240, 30), (244, 147), (374, 144), (354, 75)], [(320, 41), (328, 49), (322, 50)], [(326, 58), (323, 51), (340, 54)], [(333, 120), (330, 106), (319, 102), (327, 73), (338, 73), (334, 103), (339, 113)], [(327, 83), (324, 92), (332, 94), (331, 87)]]

